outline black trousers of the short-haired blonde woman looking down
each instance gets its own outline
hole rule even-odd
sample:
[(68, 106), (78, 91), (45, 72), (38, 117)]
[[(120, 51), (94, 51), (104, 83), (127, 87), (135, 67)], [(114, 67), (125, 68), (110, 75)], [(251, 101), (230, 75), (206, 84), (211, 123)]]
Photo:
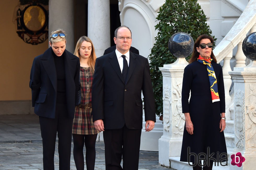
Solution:
[(43, 139), (44, 169), (54, 170), (55, 142), (58, 132), (59, 169), (69, 170), (73, 118), (68, 118), (66, 104), (56, 104), (55, 119), (39, 116), (39, 122)]

